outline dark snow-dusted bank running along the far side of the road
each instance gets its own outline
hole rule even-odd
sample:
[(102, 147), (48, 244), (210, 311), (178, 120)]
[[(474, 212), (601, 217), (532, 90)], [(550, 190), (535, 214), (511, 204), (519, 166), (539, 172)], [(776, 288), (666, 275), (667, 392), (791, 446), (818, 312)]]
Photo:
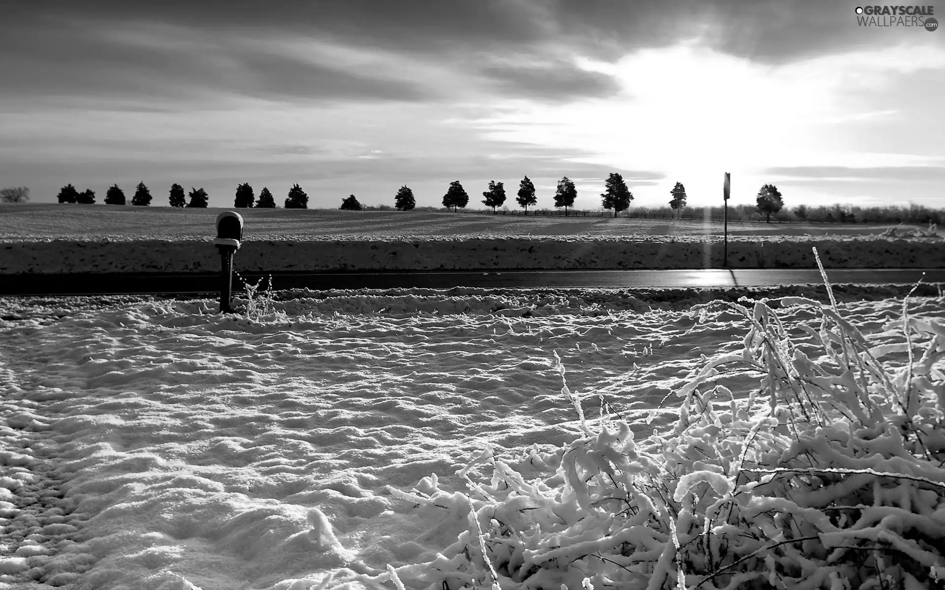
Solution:
[[(301, 237), (300, 237), (301, 238)], [(823, 241), (741, 236), (728, 245), (732, 268), (943, 268), (941, 240), (844, 236)], [(234, 267), (242, 272), (722, 268), (718, 239), (668, 236), (480, 238), (441, 236), (362, 240), (246, 240)], [(200, 241), (120, 240), (0, 243), (0, 274), (217, 272), (219, 252)]]

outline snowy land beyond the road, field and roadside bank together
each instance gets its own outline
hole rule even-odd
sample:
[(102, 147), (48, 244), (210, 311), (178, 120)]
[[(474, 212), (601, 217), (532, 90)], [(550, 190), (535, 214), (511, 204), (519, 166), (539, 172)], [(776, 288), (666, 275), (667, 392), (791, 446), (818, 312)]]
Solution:
[[(216, 272), (224, 210), (26, 204), (0, 208), (0, 274)], [(722, 268), (710, 221), (421, 211), (241, 210), (243, 272)], [(733, 268), (942, 268), (934, 228), (732, 224)]]

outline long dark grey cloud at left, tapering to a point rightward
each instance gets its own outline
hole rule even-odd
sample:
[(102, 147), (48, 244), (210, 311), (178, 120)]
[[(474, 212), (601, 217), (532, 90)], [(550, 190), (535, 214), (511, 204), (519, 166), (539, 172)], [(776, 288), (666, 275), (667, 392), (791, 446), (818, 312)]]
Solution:
[(363, 76), (191, 30), (192, 37), (158, 45), (118, 41), (79, 25), (19, 30), (0, 41), (8, 60), (0, 69), (6, 80), (0, 94), (187, 98), (209, 91), (295, 101), (436, 96), (419, 83)]

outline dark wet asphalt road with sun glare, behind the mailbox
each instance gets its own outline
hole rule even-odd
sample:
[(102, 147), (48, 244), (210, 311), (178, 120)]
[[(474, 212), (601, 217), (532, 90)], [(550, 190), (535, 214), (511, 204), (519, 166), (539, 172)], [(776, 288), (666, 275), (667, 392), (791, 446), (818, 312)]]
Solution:
[[(924, 278), (922, 273), (924, 272)], [(913, 284), (945, 282), (945, 269), (834, 269), (831, 283)], [(250, 282), (264, 277), (244, 275)], [(777, 286), (822, 282), (817, 270), (515, 270), (377, 273), (273, 273), (275, 289), (654, 288)], [(0, 275), (0, 295), (178, 295), (218, 294), (218, 274)], [(266, 280), (262, 286), (265, 287)], [(233, 293), (243, 291), (233, 277)]]

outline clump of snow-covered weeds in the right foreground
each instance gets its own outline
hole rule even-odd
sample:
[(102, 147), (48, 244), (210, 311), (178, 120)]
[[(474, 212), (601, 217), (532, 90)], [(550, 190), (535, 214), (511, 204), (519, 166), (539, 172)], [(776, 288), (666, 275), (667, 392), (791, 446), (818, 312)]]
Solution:
[[(835, 304), (697, 305), (744, 316), (743, 349), (707, 359), (675, 392), (675, 427), (642, 441), (619, 415), (592, 430), (558, 360), (585, 434), (557, 470), (525, 480), (487, 448), (457, 472), (466, 493), (435, 477), (423, 492), (388, 488), (421, 510), (469, 514), (470, 527), (433, 561), (374, 580), (431, 590), (945, 587), (945, 322), (910, 317), (907, 299), (892, 323), (906, 342), (880, 346)], [(803, 343), (775, 311), (797, 306), (817, 314), (799, 326)], [(821, 356), (808, 356), (812, 344)], [(888, 359), (897, 353), (904, 366)], [(718, 384), (703, 391), (726, 365), (757, 370), (760, 388), (747, 399)], [(491, 479), (476, 482), (483, 465)]]

